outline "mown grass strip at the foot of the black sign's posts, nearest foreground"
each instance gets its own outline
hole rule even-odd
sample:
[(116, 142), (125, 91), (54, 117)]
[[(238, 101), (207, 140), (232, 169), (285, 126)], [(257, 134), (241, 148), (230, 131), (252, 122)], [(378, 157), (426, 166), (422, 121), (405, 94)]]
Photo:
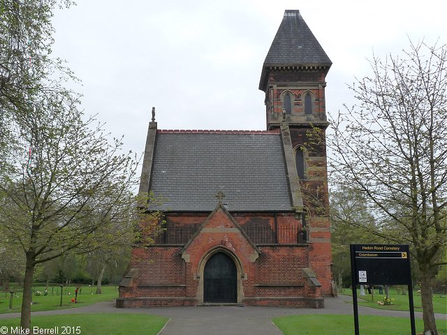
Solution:
[[(284, 335), (352, 335), (354, 320), (351, 315), (291, 315), (274, 318), (273, 322)], [(360, 334), (408, 335), (411, 333), (409, 318), (360, 315)], [(437, 321), (439, 335), (447, 334), (445, 320)], [(423, 322), (416, 319), (416, 331), (423, 332)]]

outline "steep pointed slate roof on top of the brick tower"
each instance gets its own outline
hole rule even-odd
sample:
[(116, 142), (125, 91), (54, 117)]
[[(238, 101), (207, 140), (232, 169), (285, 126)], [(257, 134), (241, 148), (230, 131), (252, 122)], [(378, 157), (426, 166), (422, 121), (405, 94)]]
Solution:
[(330, 65), (332, 62), (307, 27), (300, 11), (286, 10), (264, 66), (316, 64)]

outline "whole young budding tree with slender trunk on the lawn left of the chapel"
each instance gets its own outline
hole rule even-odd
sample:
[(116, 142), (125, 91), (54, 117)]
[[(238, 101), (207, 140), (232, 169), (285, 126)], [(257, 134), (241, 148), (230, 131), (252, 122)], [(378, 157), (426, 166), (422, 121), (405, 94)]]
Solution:
[[(45, 94), (35, 108), (22, 146), (11, 151), (0, 190), (8, 206), (0, 208), (1, 234), (26, 255), (22, 326), (29, 327), (31, 283), (37, 264), (68, 251), (78, 253), (109, 244), (98, 228), (135, 219), (136, 162), (119, 154), (101, 128), (82, 122), (73, 101)], [(40, 109), (51, 112), (41, 112)], [(18, 141), (17, 143), (20, 143)], [(32, 143), (31, 154), (27, 152)], [(29, 151), (30, 152), (30, 151)]]

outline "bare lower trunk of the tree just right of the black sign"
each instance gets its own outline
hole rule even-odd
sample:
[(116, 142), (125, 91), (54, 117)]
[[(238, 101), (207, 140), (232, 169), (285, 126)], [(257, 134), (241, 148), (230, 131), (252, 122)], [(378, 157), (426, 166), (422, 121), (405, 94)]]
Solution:
[(424, 332), (430, 330), (432, 335), (439, 335), (434, 321), (433, 297), (432, 297), (432, 271), (427, 265), (419, 267), (420, 269), (420, 299), (422, 301), (424, 321)]

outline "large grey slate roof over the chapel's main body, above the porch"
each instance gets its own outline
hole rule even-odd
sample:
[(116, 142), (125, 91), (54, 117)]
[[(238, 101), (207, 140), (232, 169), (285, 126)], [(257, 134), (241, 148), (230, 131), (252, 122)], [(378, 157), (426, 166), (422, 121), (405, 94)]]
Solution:
[(279, 133), (159, 131), (150, 188), (170, 211), (212, 211), (220, 190), (228, 211), (291, 210)]

